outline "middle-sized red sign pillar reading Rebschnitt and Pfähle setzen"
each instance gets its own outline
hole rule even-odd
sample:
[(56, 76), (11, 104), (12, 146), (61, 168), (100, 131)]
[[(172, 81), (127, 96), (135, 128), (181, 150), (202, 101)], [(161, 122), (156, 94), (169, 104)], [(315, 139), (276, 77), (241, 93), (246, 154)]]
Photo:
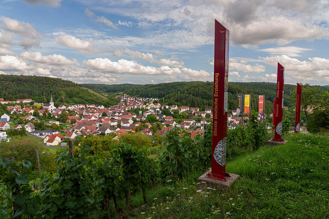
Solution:
[(282, 134), (282, 113), (283, 113), (283, 92), (285, 81), (285, 68), (278, 62), (278, 76), (276, 82), (276, 103), (275, 103), (275, 117), (274, 121), (274, 138), (272, 141), (283, 142)]

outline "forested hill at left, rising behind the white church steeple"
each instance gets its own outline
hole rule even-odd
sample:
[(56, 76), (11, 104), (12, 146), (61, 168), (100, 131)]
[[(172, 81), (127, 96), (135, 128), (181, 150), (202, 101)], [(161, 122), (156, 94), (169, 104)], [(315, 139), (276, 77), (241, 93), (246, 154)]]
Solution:
[(102, 104), (115, 105), (117, 99), (104, 99), (81, 88), (81, 85), (60, 78), (0, 74), (0, 98), (7, 101), (32, 99), (39, 103), (49, 103), (53, 95), (54, 105), (60, 104)]

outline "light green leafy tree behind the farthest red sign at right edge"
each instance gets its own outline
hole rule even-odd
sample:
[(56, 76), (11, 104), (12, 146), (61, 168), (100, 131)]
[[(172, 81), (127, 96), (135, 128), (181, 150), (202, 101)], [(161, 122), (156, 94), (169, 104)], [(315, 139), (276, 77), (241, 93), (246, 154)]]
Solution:
[[(302, 86), (302, 95), (301, 95), (301, 110), (304, 111), (306, 120), (308, 116), (318, 110), (323, 109), (325, 106), (328, 106), (328, 92), (320, 91), (320, 86), (310, 86), (308, 83), (299, 83)], [(297, 87), (295, 87), (290, 95), (291, 101), (296, 101), (296, 92)], [(325, 101), (326, 100), (326, 101)]]

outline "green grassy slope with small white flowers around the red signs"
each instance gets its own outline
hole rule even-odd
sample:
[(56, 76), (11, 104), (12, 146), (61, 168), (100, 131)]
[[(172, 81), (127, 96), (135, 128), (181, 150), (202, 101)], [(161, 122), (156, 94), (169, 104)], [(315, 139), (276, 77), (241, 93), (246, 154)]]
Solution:
[[(204, 172), (193, 172), (189, 180), (149, 188), (148, 206), (130, 217), (328, 218), (329, 138), (293, 134), (287, 140), (228, 160), (226, 171), (240, 175), (229, 190), (197, 192), (196, 179)], [(141, 206), (141, 194), (131, 203)]]

